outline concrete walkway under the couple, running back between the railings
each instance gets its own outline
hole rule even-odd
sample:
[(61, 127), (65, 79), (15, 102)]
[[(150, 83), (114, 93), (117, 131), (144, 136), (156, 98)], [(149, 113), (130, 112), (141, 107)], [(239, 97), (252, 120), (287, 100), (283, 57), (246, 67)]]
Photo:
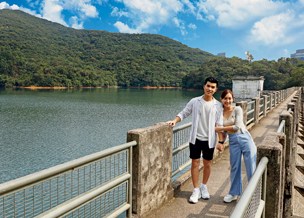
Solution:
[[(250, 130), (250, 134), (256, 144), (261, 143), (268, 132), (276, 132), (279, 127), (279, 116), (287, 110), (287, 103), (293, 97), (291, 94), (280, 105), (278, 105), (267, 117), (263, 118), (257, 125)], [(200, 181), (202, 180), (200, 175)], [(244, 162), (242, 163), (243, 189), (247, 184), (247, 176)], [(228, 194), (230, 189), (230, 162), (229, 151), (212, 164), (212, 172), (207, 184), (210, 199), (199, 199), (196, 204), (189, 203), (189, 197), (193, 191), (192, 183), (185, 186), (173, 199), (160, 208), (153, 218), (214, 218), (229, 217), (237, 201), (231, 203), (223, 202), (223, 198)], [(239, 199), (239, 197), (238, 197)], [(238, 200), (237, 199), (237, 200)]]

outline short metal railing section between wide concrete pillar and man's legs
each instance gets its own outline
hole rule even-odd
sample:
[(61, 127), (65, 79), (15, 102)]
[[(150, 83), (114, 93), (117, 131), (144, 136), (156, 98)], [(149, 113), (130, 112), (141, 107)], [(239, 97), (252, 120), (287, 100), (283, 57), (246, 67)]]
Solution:
[(191, 125), (192, 123), (186, 123), (173, 130), (172, 177), (191, 165), (187, 149)]

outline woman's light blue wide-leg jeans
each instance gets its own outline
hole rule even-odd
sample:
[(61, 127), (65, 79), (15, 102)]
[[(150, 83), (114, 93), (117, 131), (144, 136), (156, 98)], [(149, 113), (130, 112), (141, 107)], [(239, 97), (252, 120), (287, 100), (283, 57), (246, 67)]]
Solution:
[(230, 152), (230, 195), (242, 195), (242, 154), (246, 167), (247, 179), (250, 180), (256, 168), (256, 147), (250, 133), (246, 130), (229, 134), (229, 152)]

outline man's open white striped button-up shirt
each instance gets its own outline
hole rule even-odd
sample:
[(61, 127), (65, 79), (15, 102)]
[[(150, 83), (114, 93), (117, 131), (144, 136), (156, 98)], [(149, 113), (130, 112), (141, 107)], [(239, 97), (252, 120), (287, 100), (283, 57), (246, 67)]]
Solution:
[[(191, 127), (190, 138), (189, 138), (189, 142), (191, 142), (193, 144), (195, 144), (195, 140), (196, 140), (196, 136), (197, 136), (197, 132), (198, 132), (198, 123), (199, 123), (202, 106), (203, 106), (203, 103), (202, 103), (203, 96), (191, 99), (187, 103), (184, 110), (182, 110), (177, 115), (177, 117), (180, 118), (180, 121), (182, 121), (183, 119), (185, 119), (189, 115), (191, 115), (191, 113), (193, 113), (192, 127)], [(215, 126), (224, 126), (223, 125), (223, 106), (215, 98), (213, 98), (212, 102), (213, 102), (213, 104), (210, 108), (210, 115), (209, 115), (209, 135), (208, 135), (209, 148), (215, 148), (215, 146), (216, 146)]]

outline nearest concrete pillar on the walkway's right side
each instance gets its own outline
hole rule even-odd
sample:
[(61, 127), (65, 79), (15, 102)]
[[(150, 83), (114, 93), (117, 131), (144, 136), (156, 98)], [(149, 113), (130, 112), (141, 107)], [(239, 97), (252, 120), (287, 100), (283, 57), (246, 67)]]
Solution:
[(284, 191), (285, 134), (269, 132), (257, 147), (257, 163), (267, 157), (265, 217), (281, 218)]

